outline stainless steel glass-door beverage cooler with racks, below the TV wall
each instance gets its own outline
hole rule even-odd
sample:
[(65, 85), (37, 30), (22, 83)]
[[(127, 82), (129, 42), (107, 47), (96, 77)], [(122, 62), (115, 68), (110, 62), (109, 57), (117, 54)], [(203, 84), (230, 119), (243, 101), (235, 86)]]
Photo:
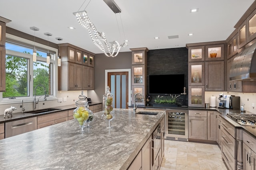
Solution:
[(188, 110), (166, 109), (166, 139), (188, 142)]

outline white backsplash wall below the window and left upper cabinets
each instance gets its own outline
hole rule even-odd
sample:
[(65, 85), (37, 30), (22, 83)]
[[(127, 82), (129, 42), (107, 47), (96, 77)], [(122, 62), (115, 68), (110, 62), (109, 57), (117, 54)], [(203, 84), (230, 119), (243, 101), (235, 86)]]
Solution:
[[(87, 90), (83, 90), (84, 95), (87, 96)], [(39, 103), (36, 104), (36, 109), (44, 109), (44, 108), (50, 108), (50, 107), (58, 107), (58, 106), (66, 106), (66, 105), (72, 105), (78, 100), (78, 96), (81, 94), (82, 91), (80, 90), (74, 90), (74, 91), (58, 91), (58, 98), (62, 99), (62, 102), (58, 102), (58, 100), (46, 100), (44, 101), (43, 98), (40, 98)], [(66, 98), (67, 101), (63, 102), (63, 99)], [(43, 105), (44, 104), (44, 105)], [(14, 110), (12, 113), (18, 113), (22, 111), (21, 101), (20, 103), (16, 104), (2, 104), (0, 105), (0, 115), (4, 115), (4, 110), (14, 106), (17, 108), (17, 110)], [(34, 102), (26, 102), (26, 100), (23, 100), (23, 106), (25, 107), (26, 111), (34, 110)]]

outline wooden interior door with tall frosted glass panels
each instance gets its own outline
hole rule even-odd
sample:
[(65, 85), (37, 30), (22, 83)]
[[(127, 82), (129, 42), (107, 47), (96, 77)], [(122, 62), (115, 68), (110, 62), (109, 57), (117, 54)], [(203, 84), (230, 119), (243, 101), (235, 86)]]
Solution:
[(128, 72), (108, 72), (108, 86), (114, 108), (128, 109)]

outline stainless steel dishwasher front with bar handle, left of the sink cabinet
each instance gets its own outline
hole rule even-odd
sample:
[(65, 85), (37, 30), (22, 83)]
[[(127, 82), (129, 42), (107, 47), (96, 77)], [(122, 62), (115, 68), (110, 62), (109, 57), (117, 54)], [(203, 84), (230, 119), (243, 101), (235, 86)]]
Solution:
[(5, 138), (37, 129), (36, 117), (10, 121), (5, 123)]

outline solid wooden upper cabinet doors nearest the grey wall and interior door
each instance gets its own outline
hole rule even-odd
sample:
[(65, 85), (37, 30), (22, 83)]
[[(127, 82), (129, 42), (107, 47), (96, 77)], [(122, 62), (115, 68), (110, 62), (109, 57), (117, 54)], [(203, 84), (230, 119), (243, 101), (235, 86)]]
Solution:
[(82, 90), (94, 90), (94, 67), (82, 66)]

